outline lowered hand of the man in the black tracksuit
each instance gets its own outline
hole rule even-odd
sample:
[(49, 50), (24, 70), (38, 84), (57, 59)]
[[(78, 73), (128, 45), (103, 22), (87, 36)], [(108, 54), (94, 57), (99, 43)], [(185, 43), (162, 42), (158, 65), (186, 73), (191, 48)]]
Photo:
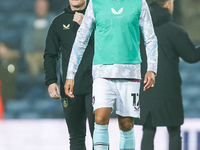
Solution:
[(48, 87), (49, 96), (51, 98), (60, 99), (60, 90), (56, 83), (52, 83)]

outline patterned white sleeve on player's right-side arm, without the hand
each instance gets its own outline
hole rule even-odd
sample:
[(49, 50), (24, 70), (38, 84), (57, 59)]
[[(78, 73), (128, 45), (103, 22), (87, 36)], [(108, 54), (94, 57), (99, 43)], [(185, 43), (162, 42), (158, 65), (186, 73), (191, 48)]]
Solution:
[(142, 31), (146, 48), (147, 64), (148, 64), (147, 71), (154, 71), (155, 73), (157, 73), (157, 64), (158, 64), (157, 37), (154, 33), (149, 7), (145, 0), (142, 0), (139, 25)]

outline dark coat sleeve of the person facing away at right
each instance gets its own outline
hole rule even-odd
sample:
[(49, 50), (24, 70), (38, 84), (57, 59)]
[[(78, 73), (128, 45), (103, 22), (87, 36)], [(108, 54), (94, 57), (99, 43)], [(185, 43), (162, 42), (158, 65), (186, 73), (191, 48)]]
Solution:
[(172, 40), (174, 49), (178, 56), (188, 63), (195, 63), (200, 60), (200, 46), (196, 47), (189, 39), (187, 32), (180, 26), (176, 26), (172, 31)]

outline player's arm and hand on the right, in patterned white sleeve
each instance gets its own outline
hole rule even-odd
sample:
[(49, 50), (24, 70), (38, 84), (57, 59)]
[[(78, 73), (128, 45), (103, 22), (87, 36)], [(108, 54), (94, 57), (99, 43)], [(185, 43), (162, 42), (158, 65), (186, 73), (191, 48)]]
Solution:
[(144, 78), (144, 91), (154, 87), (155, 75), (157, 73), (158, 62), (158, 45), (157, 37), (154, 33), (154, 28), (151, 20), (148, 5), (145, 0), (142, 0), (142, 9), (140, 14), (139, 25), (144, 37), (146, 54), (147, 54), (147, 73)]

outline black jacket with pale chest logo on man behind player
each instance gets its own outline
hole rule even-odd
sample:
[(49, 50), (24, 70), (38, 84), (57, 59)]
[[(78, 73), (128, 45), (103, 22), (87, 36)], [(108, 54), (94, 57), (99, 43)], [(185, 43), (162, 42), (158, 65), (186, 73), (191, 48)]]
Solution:
[[(77, 11), (85, 14), (85, 9)], [(68, 62), (79, 25), (72, 21), (75, 11), (67, 6), (63, 13), (52, 22), (44, 53), (45, 84), (57, 83), (57, 61), (60, 60), (61, 82), (66, 80)], [(92, 35), (93, 36), (93, 35)], [(86, 94), (92, 91), (92, 60), (94, 51), (93, 37), (84, 53), (81, 64), (75, 76), (74, 94)], [(64, 91), (64, 87), (61, 91)], [(64, 94), (64, 93), (62, 93)]]

